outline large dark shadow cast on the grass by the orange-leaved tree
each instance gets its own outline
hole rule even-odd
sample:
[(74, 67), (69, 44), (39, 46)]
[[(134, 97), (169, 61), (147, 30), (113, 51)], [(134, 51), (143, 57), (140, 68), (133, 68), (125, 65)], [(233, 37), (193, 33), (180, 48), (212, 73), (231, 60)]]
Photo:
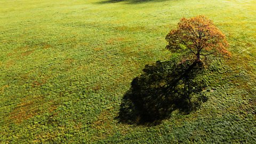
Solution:
[(187, 115), (207, 101), (201, 78), (201, 63), (185, 61), (157, 61), (146, 65), (143, 74), (133, 79), (130, 90), (123, 97), (119, 122), (156, 125), (169, 118), (174, 110)]

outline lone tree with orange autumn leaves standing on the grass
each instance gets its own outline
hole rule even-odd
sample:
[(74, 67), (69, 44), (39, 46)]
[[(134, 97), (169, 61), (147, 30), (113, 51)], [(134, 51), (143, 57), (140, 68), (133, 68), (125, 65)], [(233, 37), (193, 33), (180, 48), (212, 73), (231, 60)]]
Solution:
[(165, 39), (168, 50), (181, 52), (196, 62), (201, 62), (201, 55), (230, 55), (225, 35), (204, 15), (182, 18), (177, 29), (171, 30)]

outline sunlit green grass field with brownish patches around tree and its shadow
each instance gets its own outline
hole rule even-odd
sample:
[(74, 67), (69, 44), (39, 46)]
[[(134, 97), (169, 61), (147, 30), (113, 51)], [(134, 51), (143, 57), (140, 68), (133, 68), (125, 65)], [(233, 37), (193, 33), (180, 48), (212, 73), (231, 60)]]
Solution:
[[(203, 105), (155, 126), (116, 118), (132, 79), (167, 61), (180, 18), (206, 15), (232, 57)], [(254, 143), (255, 0), (0, 1), (0, 143)]]

